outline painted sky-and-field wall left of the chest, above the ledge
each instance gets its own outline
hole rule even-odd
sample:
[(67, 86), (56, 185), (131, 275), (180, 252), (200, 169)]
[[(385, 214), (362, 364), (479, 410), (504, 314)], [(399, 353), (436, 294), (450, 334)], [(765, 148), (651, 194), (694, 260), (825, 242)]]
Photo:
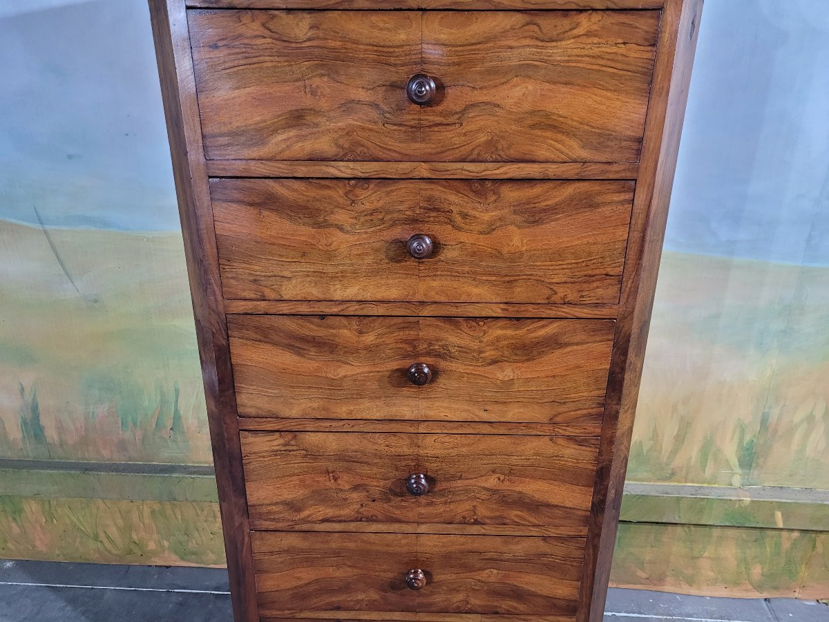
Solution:
[(211, 464), (148, 9), (0, 12), (0, 456)]

